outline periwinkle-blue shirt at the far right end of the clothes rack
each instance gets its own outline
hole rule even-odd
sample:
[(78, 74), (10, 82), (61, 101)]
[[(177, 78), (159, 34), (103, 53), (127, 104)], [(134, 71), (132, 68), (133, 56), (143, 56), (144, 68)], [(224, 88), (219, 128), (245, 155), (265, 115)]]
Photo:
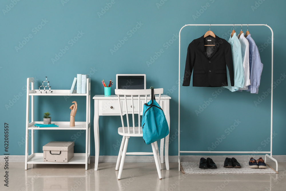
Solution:
[(251, 35), (247, 35), (246, 39), (249, 42), (249, 69), (250, 69), (250, 86), (248, 90), (250, 93), (258, 93), (258, 88), (260, 85), (260, 78), (263, 69), (263, 64), (261, 63), (258, 48), (251, 38)]

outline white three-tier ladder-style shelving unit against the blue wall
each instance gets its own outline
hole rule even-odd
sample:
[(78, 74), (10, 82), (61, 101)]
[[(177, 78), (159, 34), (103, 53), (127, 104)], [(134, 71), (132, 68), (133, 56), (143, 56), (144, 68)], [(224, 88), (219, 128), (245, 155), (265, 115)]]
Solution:
[[(53, 93), (40, 93), (34, 90), (34, 78), (27, 78), (27, 109), (26, 109), (26, 150), (25, 150), (25, 170), (28, 164), (85, 164), (88, 169), (90, 164), (90, 78), (87, 78), (86, 94), (77, 94), (76, 90), (71, 94), (70, 90), (53, 90)], [(31, 107), (30, 107), (31, 96)], [(76, 121), (75, 127), (69, 126), (69, 121), (52, 121), (59, 127), (35, 127), (34, 121), (34, 96), (86, 96), (86, 121)], [(31, 112), (31, 122), (29, 115)], [(35, 130), (85, 130), (86, 131), (86, 152), (74, 153), (74, 157), (67, 163), (44, 162), (43, 153), (34, 153), (34, 131)], [(31, 155), (29, 155), (29, 131), (31, 131)], [(51, 140), (53, 141), (53, 140)]]

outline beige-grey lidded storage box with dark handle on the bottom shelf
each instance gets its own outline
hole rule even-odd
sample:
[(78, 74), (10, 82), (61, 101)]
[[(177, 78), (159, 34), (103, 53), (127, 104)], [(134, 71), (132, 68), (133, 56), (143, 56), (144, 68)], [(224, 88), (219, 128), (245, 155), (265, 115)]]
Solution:
[(74, 157), (74, 142), (51, 141), (43, 146), (44, 162), (68, 162)]

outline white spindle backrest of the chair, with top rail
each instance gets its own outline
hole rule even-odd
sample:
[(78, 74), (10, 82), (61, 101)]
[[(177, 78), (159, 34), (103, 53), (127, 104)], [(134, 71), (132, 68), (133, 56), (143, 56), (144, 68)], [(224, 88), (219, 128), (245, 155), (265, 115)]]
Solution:
[[(159, 94), (159, 99), (156, 100), (158, 104), (160, 104), (160, 99), (161, 99), (161, 94), (163, 93), (163, 88), (157, 88), (154, 89), (154, 95)], [(138, 133), (142, 134), (141, 130), (140, 130), (140, 124), (141, 124), (141, 120), (140, 120), (140, 109), (142, 109), (143, 112), (143, 104), (147, 103), (147, 96), (150, 95), (150, 99), (151, 99), (151, 89), (145, 89), (145, 90), (122, 90), (122, 89), (115, 89), (115, 94), (118, 97), (118, 103), (119, 103), (119, 108), (120, 108), (120, 116), (121, 116), (121, 123), (122, 123), (122, 128), (123, 128), (123, 132), (124, 133), (130, 133), (130, 125), (129, 125), (129, 117), (128, 114), (132, 114), (132, 126), (133, 126), (133, 132), (135, 133), (137, 131), (135, 131), (135, 128), (138, 128)], [(124, 96), (124, 101), (121, 104), (122, 99), (120, 99), (120, 96)], [(127, 102), (127, 98), (126, 96), (131, 96), (131, 111), (130, 109), (128, 110), (128, 102)], [(145, 102), (141, 105), (140, 104), (140, 96), (141, 98), (144, 98), (143, 96), (145, 96)], [(138, 108), (136, 109), (136, 111), (134, 112), (134, 108), (136, 108), (136, 106), (134, 105), (134, 100), (138, 100)], [(149, 100), (148, 100), (149, 101)], [(130, 104), (130, 103), (129, 103)], [(125, 105), (125, 106), (124, 106)], [(133, 107), (132, 107), (133, 106)], [(135, 106), (135, 107), (134, 107)], [(141, 106), (141, 107), (140, 107)], [(125, 112), (123, 112), (123, 108), (125, 107)], [(135, 127), (135, 113), (138, 113), (138, 127)], [(128, 132), (125, 132), (125, 128), (124, 128), (124, 120), (123, 120), (123, 115), (126, 114), (126, 121), (127, 121), (127, 129)]]

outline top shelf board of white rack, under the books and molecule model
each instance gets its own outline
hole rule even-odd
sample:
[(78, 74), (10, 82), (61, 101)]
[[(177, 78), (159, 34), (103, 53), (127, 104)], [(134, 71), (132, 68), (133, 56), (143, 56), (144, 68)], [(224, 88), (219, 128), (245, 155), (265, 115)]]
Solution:
[[(37, 91), (37, 92), (35, 92)], [(41, 90), (41, 92), (39, 92), (39, 90), (29, 90), (29, 96), (33, 95), (33, 96), (88, 96), (90, 95), (90, 91), (88, 91), (88, 93), (86, 94), (77, 94), (76, 90), (74, 90), (74, 93), (70, 93), (70, 90), (52, 90), (52, 93), (49, 93), (49, 90), (47, 90), (48, 92), (45, 93), (43, 92), (43, 90)]]

